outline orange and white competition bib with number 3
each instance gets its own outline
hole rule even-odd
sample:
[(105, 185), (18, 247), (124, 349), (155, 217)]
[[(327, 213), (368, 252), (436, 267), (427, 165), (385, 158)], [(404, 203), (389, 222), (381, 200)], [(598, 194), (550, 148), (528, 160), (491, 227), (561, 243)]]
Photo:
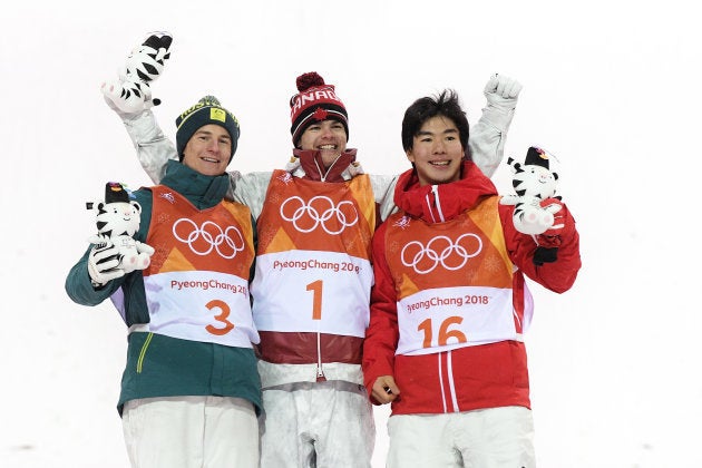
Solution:
[(164, 186), (152, 188), (147, 243), (156, 252), (144, 271), (149, 331), (183, 340), (252, 348), (248, 273), (253, 226), (248, 208), (222, 202), (197, 209)]

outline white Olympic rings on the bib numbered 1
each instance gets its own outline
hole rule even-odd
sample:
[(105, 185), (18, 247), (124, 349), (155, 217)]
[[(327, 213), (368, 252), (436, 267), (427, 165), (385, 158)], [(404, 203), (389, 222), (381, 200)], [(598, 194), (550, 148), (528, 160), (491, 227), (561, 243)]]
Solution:
[(314, 231), (318, 226), (330, 235), (340, 234), (359, 221), (359, 213), (350, 201), (341, 201), (334, 206), (331, 198), (322, 195), (308, 203), (299, 196), (287, 198), (281, 205), (281, 216), (301, 233)]

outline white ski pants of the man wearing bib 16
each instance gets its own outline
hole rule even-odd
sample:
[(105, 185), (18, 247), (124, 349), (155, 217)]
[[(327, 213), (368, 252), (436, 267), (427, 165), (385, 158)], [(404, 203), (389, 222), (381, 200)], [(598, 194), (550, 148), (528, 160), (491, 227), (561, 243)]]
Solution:
[(524, 407), (388, 419), (388, 468), (534, 468), (534, 421)]

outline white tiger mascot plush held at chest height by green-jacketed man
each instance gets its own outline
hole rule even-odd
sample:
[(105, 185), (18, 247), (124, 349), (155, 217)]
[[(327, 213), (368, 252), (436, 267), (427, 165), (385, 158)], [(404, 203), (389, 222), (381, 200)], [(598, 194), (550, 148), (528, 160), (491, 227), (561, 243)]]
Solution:
[(117, 245), (119, 250), (119, 263), (115, 270), (121, 269), (126, 274), (144, 270), (150, 264), (154, 248), (133, 237), (139, 231), (142, 205), (129, 199), (124, 185), (108, 182), (105, 202), (88, 202), (86, 206), (97, 211), (95, 218), (98, 233), (89, 242), (98, 246)]

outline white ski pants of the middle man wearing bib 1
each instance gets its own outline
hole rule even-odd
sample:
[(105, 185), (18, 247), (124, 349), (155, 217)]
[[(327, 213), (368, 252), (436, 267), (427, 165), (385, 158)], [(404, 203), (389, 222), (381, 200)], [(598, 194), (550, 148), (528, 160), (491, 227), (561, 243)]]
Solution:
[(261, 467), (369, 468), (376, 422), (365, 389), (344, 381), (263, 390)]

